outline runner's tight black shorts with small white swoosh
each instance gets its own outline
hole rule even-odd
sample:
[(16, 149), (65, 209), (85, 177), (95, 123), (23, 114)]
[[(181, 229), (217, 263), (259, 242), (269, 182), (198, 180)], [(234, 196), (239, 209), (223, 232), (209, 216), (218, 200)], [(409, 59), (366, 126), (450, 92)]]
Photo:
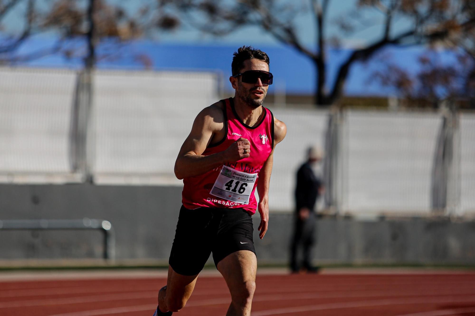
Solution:
[(169, 264), (181, 275), (196, 275), (213, 253), (214, 264), (229, 254), (248, 250), (256, 253), (252, 218), (241, 208), (181, 206)]

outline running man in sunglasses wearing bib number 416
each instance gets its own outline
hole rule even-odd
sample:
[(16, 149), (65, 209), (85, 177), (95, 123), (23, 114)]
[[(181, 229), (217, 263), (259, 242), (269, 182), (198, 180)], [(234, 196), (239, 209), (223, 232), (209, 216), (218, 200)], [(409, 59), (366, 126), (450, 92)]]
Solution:
[(264, 238), (273, 153), (287, 130), (262, 106), (273, 78), (267, 54), (240, 47), (231, 68), (234, 98), (198, 114), (175, 162), (175, 175), (184, 184), (183, 206), (167, 285), (158, 293), (154, 316), (171, 315), (185, 306), (210, 253), (231, 293), (226, 315), (251, 313), (257, 270), (251, 215), (258, 209), (259, 237)]

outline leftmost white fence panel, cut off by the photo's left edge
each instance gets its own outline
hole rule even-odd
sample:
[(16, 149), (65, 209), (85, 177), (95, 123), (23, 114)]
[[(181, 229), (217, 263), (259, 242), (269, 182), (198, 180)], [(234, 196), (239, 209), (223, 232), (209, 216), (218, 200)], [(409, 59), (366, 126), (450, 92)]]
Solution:
[(71, 172), (75, 84), (73, 71), (0, 68), (0, 181), (55, 182)]

